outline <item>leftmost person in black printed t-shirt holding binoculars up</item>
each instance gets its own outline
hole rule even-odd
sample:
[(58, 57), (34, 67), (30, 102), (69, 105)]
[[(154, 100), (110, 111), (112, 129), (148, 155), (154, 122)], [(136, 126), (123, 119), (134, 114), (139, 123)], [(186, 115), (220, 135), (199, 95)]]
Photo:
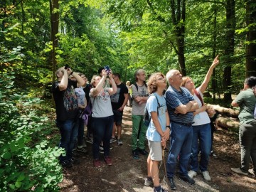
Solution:
[[(78, 98), (75, 95), (75, 88), (85, 85), (78, 73), (75, 73), (66, 65), (56, 71), (57, 81), (53, 82), (52, 92), (56, 109), (56, 125), (60, 129), (59, 147), (65, 149), (65, 156), (60, 156), (60, 164), (63, 167), (73, 167), (72, 150), (75, 140), (78, 137)], [(73, 75), (75, 81), (68, 78)]]

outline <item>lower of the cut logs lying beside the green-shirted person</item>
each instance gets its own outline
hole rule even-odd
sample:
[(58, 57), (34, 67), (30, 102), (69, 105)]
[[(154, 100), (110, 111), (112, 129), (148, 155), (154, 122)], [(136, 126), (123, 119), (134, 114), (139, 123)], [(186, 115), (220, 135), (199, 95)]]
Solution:
[(238, 122), (238, 119), (233, 119), (230, 117), (218, 117), (216, 124), (218, 127), (229, 129), (232, 132), (239, 132), (240, 123)]

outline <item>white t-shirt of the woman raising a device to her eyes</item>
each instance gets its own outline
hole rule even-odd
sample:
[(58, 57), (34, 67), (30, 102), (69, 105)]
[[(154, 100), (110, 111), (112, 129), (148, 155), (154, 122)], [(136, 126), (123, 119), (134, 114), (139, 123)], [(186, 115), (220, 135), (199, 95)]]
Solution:
[(90, 100), (92, 102), (92, 117), (109, 117), (113, 115), (110, 94), (108, 92), (109, 89), (109, 87), (103, 88), (103, 90), (95, 97), (90, 95)]

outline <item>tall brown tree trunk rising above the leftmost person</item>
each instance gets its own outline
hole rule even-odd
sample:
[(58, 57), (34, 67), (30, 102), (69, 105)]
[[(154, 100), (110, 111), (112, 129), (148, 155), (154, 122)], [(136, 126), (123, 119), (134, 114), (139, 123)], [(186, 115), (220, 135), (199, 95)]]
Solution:
[(51, 26), (51, 41), (53, 45), (53, 49), (50, 53), (50, 63), (53, 65), (53, 82), (55, 80), (55, 70), (56, 70), (56, 58), (55, 58), (55, 48), (58, 47), (58, 38), (56, 34), (58, 33), (58, 26), (59, 26), (59, 2), (58, 0), (49, 0), (50, 2), (50, 26)]

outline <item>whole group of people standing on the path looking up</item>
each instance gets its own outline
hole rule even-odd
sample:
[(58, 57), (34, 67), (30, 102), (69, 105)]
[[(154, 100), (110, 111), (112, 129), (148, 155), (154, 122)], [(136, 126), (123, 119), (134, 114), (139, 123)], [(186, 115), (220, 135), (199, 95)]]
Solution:
[[(153, 186), (156, 192), (166, 191), (159, 182), (158, 164), (162, 161), (162, 151), (166, 149), (166, 141), (169, 139), (166, 174), (170, 188), (176, 189), (174, 175), (177, 161), (178, 178), (181, 180), (193, 185), (196, 183), (193, 177), (201, 173), (206, 181), (210, 181), (208, 164), (210, 154), (213, 154), (214, 122), (217, 115), (203, 102), (203, 92), (218, 63), (217, 56), (199, 87), (195, 87), (190, 77), (183, 77), (175, 69), (169, 70), (166, 76), (163, 73), (153, 73), (147, 83), (145, 70), (136, 70), (136, 82), (132, 85), (129, 82), (124, 85), (119, 73), (100, 69), (100, 74), (92, 77), (92, 87), (87, 92), (92, 104), (91, 123), (89, 127), (87, 125), (90, 129), (87, 132), (92, 132), (94, 166), (101, 166), (100, 146), (103, 148), (105, 163), (112, 165), (110, 143), (117, 141), (117, 144), (122, 145), (122, 114), (129, 100), (128, 106), (132, 106), (132, 157), (139, 159), (140, 155), (147, 156), (147, 177), (144, 185)], [(85, 80), (70, 68), (60, 68), (56, 75), (58, 81), (53, 84), (56, 124), (60, 129), (60, 147), (66, 151), (65, 156), (60, 156), (60, 164), (70, 167), (75, 162), (72, 151), (81, 127), (78, 114), (82, 108), (77, 104), (75, 88), (87, 86)], [(75, 81), (69, 79), (70, 75), (73, 75)], [(106, 81), (107, 78), (109, 81)], [(167, 90), (166, 82), (169, 82)], [(247, 175), (248, 171), (251, 174), (256, 172), (256, 120), (253, 117), (256, 91), (252, 89), (255, 85), (255, 77), (247, 78), (244, 90), (232, 102), (234, 107), (240, 107), (241, 166), (231, 170), (243, 175)], [(149, 112), (148, 126), (144, 124), (145, 111)], [(146, 139), (149, 152), (146, 151)], [(80, 142), (77, 147), (78, 150), (81, 149)], [(199, 151), (201, 158), (198, 162)], [(254, 169), (249, 169), (250, 160)]]

